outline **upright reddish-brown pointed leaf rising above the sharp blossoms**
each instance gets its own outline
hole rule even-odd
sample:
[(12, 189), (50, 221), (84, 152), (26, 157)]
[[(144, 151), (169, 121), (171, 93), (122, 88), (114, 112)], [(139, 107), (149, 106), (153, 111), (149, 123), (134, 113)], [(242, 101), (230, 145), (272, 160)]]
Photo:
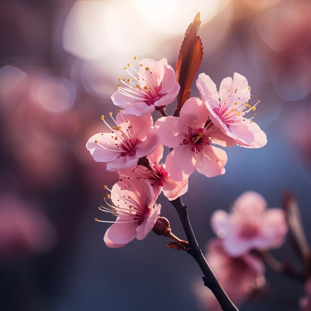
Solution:
[(193, 22), (186, 30), (176, 62), (176, 81), (180, 85), (180, 91), (177, 97), (177, 108), (174, 113), (174, 116), (177, 117), (179, 116), (181, 107), (190, 96), (190, 87), (193, 78), (202, 61), (203, 46), (198, 36), (200, 23), (200, 13), (198, 12)]

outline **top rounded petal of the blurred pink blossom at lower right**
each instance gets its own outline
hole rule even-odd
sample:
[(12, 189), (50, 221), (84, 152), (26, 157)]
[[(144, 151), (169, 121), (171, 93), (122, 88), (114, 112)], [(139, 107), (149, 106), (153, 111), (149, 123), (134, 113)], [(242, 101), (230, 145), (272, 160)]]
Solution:
[(237, 197), (233, 206), (234, 210), (256, 217), (267, 208), (267, 202), (261, 194), (255, 191), (246, 191)]

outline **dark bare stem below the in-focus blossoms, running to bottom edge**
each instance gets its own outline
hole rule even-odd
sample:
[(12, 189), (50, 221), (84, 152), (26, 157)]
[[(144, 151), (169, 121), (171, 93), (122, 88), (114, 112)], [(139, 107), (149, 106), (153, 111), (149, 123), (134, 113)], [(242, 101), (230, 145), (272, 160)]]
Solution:
[(194, 258), (204, 274), (204, 277), (202, 278), (204, 281), (204, 285), (213, 292), (223, 311), (238, 311), (238, 309), (234, 306), (233, 302), (230, 300), (230, 298), (227, 296), (226, 292), (218, 282), (212, 269), (206, 262), (206, 259), (198, 245), (198, 242), (191, 228), (187, 206), (181, 202), (180, 197), (170, 202), (178, 213), (181, 224), (188, 239), (189, 246), (186, 251)]

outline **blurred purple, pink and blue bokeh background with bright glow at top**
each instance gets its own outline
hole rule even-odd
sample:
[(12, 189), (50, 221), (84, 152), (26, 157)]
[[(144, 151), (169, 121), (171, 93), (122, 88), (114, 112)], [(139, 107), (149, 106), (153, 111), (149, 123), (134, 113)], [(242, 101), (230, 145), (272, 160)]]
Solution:
[[(2, 0), (0, 2), (0, 310), (200, 310), (193, 259), (150, 233), (120, 249), (94, 223), (115, 172), (87, 139), (106, 131), (110, 96), (136, 55), (174, 67), (201, 13), (199, 72), (217, 85), (247, 77), (268, 145), (227, 149), (226, 174), (194, 173), (184, 203), (199, 244), (210, 216), (245, 190), (280, 206), (298, 197), (311, 241), (311, 2), (309, 0)], [(195, 87), (192, 95), (198, 95)], [(167, 112), (174, 111), (171, 104)], [(154, 114), (154, 119), (159, 113)], [(185, 238), (172, 206), (162, 216)], [(286, 261), (288, 246), (274, 252)], [(241, 311), (298, 311), (303, 285), (267, 268), (267, 293)], [(202, 284), (203, 286), (203, 284)]]

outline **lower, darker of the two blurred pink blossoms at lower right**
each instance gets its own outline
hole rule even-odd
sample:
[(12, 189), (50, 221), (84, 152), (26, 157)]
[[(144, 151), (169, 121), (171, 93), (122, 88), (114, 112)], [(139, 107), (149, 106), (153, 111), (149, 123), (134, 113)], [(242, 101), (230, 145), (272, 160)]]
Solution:
[[(214, 238), (208, 242), (205, 257), (235, 305), (239, 305), (255, 289), (259, 289), (265, 284), (262, 261), (251, 254), (231, 257), (224, 250), (221, 239)], [(194, 293), (202, 310), (221, 311), (215, 296), (203, 286), (202, 281), (194, 283)]]

